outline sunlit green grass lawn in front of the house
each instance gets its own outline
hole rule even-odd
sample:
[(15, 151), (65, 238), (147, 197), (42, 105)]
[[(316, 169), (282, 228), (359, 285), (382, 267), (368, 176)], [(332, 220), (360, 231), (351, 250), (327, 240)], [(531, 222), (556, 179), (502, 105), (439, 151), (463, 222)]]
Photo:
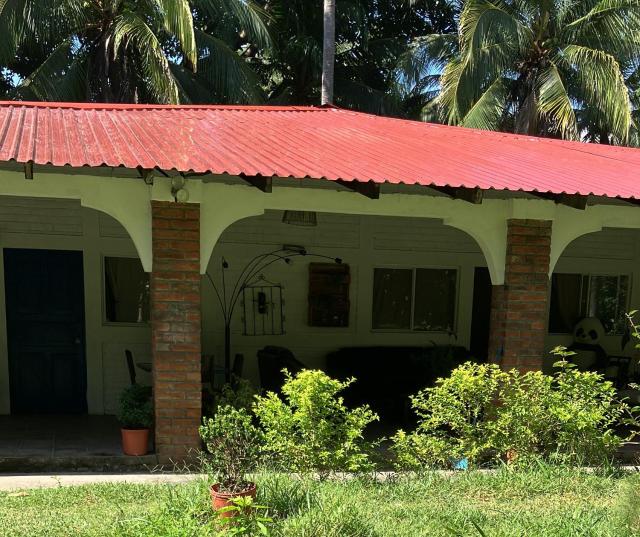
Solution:
[[(273, 536), (640, 535), (640, 478), (564, 468), (429, 474), (383, 483), (315, 482), (265, 474), (258, 502)], [(217, 535), (207, 488), (93, 485), (0, 493), (0, 534)], [(634, 531), (635, 530), (635, 531)]]

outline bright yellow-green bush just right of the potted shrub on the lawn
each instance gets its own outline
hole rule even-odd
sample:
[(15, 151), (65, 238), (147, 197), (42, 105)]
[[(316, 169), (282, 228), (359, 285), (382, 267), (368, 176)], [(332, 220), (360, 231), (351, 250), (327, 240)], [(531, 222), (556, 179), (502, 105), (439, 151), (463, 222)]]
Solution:
[(270, 392), (254, 405), (266, 451), (286, 470), (321, 477), (368, 470), (371, 445), (363, 431), (378, 416), (368, 406), (348, 409), (338, 395), (354, 379), (342, 382), (310, 370), (285, 375), (284, 400)]

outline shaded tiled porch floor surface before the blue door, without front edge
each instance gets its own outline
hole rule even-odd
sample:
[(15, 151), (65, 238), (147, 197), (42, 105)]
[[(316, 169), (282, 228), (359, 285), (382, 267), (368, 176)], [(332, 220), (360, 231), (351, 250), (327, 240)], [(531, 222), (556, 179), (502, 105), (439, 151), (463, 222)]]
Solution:
[(113, 416), (0, 416), (0, 457), (122, 455)]

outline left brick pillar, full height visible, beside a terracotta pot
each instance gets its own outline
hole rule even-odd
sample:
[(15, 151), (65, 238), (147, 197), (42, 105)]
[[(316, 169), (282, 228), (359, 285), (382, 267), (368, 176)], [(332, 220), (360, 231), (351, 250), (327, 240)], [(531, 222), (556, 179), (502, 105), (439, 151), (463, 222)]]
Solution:
[(199, 447), (200, 207), (152, 201), (151, 212), (156, 452), (179, 461)]

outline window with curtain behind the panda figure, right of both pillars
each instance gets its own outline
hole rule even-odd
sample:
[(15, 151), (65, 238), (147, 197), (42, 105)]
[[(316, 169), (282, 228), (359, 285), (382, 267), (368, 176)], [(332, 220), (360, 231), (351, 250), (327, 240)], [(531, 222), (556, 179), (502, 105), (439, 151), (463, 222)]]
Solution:
[(607, 334), (621, 334), (629, 283), (627, 275), (553, 274), (549, 332), (572, 333), (580, 319), (597, 317)]

